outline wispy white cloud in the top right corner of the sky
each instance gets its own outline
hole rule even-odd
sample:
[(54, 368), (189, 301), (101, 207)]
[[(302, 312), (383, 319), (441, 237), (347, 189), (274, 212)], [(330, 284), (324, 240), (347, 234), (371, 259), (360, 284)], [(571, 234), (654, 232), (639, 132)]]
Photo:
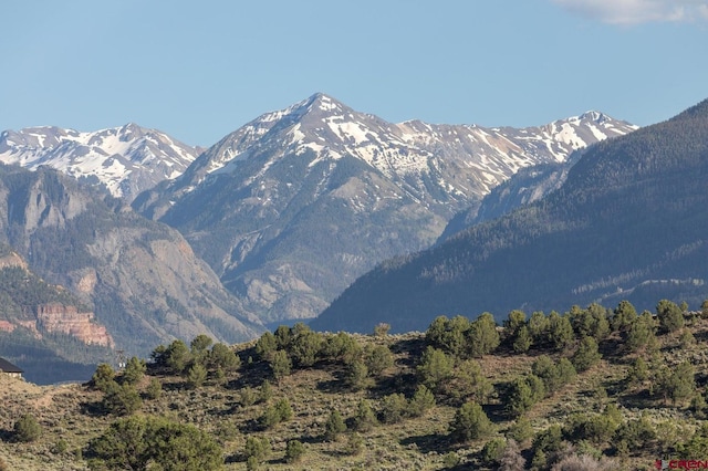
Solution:
[(611, 24), (708, 20), (708, 0), (552, 0)]

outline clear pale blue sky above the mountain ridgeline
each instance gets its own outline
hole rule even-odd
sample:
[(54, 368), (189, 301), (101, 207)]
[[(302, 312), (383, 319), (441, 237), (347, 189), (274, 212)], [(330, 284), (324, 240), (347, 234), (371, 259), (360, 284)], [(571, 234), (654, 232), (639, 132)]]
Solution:
[(324, 92), (391, 122), (647, 125), (708, 98), (708, 0), (4, 0), (0, 129), (209, 146)]

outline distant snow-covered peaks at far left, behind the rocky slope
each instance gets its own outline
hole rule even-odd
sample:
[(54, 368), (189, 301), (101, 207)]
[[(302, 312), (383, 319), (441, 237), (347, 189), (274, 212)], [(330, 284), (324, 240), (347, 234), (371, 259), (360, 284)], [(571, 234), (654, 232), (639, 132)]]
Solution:
[(46, 165), (128, 201), (181, 175), (200, 151), (135, 124), (93, 133), (45, 126), (0, 134), (1, 163), (32, 170)]

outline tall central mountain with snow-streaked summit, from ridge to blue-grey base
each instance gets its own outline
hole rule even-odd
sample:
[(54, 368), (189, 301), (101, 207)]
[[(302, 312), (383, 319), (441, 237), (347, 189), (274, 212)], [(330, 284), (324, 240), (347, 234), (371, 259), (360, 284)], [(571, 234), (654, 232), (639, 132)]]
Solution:
[(315, 94), (226, 136), (134, 208), (177, 228), (261, 318), (305, 318), (519, 169), (635, 128), (595, 112), (523, 129), (392, 124)]

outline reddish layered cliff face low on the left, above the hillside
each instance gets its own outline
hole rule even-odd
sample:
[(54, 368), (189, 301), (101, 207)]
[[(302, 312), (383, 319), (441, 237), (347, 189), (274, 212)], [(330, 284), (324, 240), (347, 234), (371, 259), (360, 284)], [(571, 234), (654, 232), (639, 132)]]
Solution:
[(86, 345), (114, 347), (106, 327), (94, 322), (93, 313), (79, 312), (76, 306), (41, 304), (37, 306), (38, 329), (72, 335)]

